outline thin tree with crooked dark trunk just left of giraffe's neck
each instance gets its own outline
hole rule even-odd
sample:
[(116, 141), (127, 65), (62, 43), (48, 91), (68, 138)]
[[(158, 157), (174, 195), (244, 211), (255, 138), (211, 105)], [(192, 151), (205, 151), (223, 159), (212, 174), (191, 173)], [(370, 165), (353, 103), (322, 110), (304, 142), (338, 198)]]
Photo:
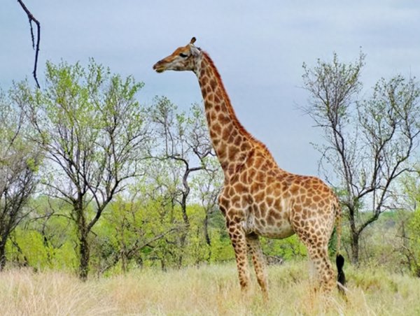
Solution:
[[(207, 168), (206, 158), (214, 156), (207, 123), (201, 106), (194, 104), (189, 115), (176, 113), (176, 106), (167, 98), (155, 100), (151, 108), (155, 134), (163, 145), (151, 153), (158, 160), (165, 160), (172, 166), (174, 185), (172, 193), (174, 201), (181, 206), (181, 213), (185, 228), (179, 240), (179, 247), (183, 249), (187, 243), (190, 220), (187, 213), (187, 200), (190, 195), (190, 181), (193, 173)], [(181, 182), (179, 180), (181, 179)], [(178, 183), (176, 183), (178, 182)], [(179, 257), (182, 265), (183, 255)]]

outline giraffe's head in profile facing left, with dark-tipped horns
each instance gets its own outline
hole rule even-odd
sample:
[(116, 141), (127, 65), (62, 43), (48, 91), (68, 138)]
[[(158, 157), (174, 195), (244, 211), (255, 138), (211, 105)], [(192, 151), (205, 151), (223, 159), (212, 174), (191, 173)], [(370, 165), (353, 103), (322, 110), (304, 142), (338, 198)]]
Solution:
[(191, 38), (190, 43), (186, 46), (176, 48), (176, 50), (161, 59), (159, 62), (153, 65), (153, 69), (158, 73), (162, 73), (165, 70), (174, 71), (195, 71), (197, 69), (197, 60), (202, 54), (200, 48), (195, 47), (195, 37)]

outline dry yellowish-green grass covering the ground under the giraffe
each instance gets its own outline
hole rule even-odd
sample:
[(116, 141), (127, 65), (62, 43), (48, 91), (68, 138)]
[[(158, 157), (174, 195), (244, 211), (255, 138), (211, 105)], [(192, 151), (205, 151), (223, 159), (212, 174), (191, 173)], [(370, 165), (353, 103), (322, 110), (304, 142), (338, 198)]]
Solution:
[[(1, 315), (319, 315), (307, 264), (269, 268), (269, 301), (253, 279), (243, 297), (234, 264), (167, 273), (144, 269), (80, 282), (68, 273), (0, 273)], [(420, 315), (420, 280), (347, 268), (348, 301), (336, 293), (327, 315)]]

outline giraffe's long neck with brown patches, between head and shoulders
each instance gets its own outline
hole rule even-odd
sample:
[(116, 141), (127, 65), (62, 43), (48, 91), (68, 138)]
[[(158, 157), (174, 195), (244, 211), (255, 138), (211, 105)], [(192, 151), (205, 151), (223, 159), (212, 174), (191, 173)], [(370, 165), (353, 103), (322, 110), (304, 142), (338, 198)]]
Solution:
[(197, 67), (210, 138), (223, 171), (235, 171), (244, 164), (256, 141), (242, 127), (235, 115), (221, 76), (207, 53), (202, 53)]

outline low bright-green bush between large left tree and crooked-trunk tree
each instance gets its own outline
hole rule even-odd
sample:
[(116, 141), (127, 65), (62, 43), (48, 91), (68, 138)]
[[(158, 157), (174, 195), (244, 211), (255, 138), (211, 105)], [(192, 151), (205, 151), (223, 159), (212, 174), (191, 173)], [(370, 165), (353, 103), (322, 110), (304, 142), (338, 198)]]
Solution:
[(128, 194), (119, 194), (109, 206), (112, 211), (97, 225), (94, 260), (98, 273), (111, 269), (125, 273), (133, 266), (143, 266), (144, 261), (153, 261), (159, 240), (180, 229), (169, 222), (163, 196), (153, 194), (157, 187), (147, 182), (143, 178), (130, 185)]

